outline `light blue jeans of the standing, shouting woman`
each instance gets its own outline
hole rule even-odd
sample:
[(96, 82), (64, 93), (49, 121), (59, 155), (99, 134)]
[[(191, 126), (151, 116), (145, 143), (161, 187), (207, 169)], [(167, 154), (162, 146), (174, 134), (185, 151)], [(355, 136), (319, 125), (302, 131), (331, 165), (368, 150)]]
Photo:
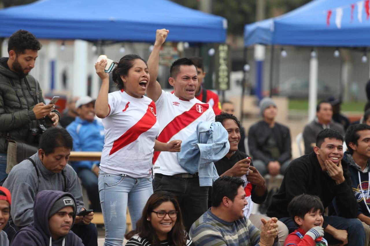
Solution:
[(153, 194), (152, 178), (132, 178), (100, 170), (98, 184), (105, 224), (104, 246), (121, 246), (126, 232), (127, 206), (132, 229), (135, 229), (148, 198)]

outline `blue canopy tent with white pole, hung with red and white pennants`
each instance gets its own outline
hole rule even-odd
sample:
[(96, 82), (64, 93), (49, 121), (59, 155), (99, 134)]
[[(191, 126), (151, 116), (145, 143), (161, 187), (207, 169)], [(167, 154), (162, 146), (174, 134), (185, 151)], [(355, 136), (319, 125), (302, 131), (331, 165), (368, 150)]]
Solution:
[[(313, 0), (282, 16), (245, 25), (244, 45), (368, 47), (369, 17), (369, 1)], [(312, 55), (309, 120), (314, 118), (316, 111), (317, 74), (317, 57)]]

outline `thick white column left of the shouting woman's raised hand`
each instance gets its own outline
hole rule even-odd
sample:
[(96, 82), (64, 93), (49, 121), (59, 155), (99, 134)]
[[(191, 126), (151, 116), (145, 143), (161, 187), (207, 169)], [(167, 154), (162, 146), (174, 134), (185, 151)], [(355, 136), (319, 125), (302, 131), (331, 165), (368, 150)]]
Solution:
[(74, 41), (73, 51), (73, 96), (87, 95), (87, 60), (88, 60), (88, 42), (84, 40)]

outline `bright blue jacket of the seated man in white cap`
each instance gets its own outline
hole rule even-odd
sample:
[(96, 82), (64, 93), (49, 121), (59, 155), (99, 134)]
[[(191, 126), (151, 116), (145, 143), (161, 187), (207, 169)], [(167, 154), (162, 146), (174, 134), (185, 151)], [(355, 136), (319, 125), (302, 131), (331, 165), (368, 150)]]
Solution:
[[(104, 146), (104, 126), (94, 120), (88, 122), (80, 117), (67, 126), (67, 131), (73, 138), (73, 151), (102, 151)], [(99, 165), (100, 161), (71, 161), (72, 167), (76, 170), (88, 168), (92, 165)]]

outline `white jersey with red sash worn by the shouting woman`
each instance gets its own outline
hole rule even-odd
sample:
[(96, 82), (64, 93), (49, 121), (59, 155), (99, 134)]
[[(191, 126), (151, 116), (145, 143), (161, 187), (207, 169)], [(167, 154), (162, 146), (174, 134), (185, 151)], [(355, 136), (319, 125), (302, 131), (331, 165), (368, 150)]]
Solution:
[(108, 94), (110, 112), (102, 119), (104, 148), (100, 168), (110, 174), (150, 177), (155, 138), (158, 135), (155, 103), (133, 98), (124, 90)]

